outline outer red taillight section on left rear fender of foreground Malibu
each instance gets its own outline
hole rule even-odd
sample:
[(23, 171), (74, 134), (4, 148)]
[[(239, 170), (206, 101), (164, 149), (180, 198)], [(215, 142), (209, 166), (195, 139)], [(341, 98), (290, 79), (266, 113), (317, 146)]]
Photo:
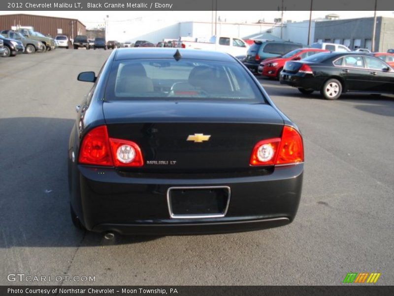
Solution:
[(79, 150), (79, 163), (113, 166), (105, 125), (95, 127), (83, 138)]

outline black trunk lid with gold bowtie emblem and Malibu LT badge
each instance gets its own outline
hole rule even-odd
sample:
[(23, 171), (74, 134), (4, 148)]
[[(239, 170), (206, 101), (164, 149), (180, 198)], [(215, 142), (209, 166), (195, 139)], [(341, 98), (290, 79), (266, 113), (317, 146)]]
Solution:
[(113, 101), (103, 111), (109, 137), (136, 143), (140, 170), (154, 172), (253, 169), (256, 143), (280, 137), (283, 127), (267, 104)]

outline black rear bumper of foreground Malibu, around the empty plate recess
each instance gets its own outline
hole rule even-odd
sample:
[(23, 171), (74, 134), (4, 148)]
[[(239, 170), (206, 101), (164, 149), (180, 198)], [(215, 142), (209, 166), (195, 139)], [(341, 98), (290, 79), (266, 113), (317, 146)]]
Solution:
[[(205, 234), (258, 230), (286, 225), (296, 216), (303, 164), (276, 167), (264, 176), (225, 179), (124, 177), (114, 169), (75, 165), (77, 182), (71, 204), (88, 230), (123, 234)], [(225, 217), (171, 218), (167, 189), (229, 186)]]

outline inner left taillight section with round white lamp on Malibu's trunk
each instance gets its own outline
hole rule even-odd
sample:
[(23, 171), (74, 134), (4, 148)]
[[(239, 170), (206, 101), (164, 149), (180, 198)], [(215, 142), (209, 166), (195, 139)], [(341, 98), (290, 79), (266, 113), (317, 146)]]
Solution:
[(144, 164), (141, 149), (127, 140), (109, 138), (115, 166), (138, 167)]

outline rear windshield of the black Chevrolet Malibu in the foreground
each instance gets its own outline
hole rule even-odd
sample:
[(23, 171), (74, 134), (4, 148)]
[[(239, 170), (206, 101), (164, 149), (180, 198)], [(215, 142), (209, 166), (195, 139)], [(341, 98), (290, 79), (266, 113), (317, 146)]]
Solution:
[(238, 63), (146, 59), (114, 61), (105, 100), (193, 99), (263, 103), (263, 96)]

